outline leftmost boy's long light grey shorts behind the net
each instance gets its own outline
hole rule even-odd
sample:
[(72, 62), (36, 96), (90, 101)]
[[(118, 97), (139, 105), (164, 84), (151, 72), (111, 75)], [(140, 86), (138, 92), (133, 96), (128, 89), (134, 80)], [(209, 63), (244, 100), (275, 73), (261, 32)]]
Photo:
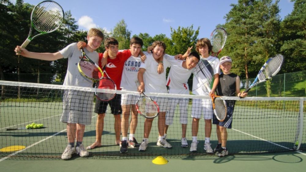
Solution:
[(65, 91), (61, 122), (89, 125), (93, 113), (93, 92)]

